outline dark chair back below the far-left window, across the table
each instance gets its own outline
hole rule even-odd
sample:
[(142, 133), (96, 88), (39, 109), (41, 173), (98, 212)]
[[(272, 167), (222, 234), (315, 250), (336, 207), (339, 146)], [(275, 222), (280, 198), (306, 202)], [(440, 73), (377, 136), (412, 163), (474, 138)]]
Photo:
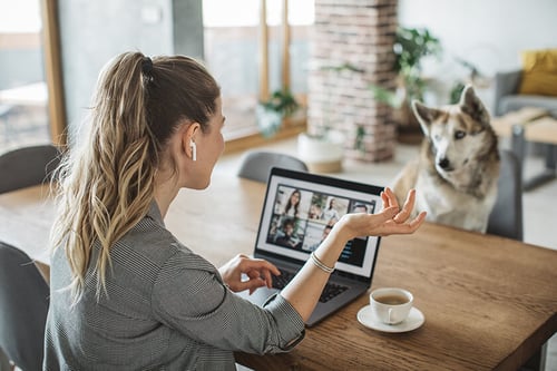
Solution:
[(22, 147), (0, 156), (0, 194), (50, 182), (60, 162), (53, 145)]

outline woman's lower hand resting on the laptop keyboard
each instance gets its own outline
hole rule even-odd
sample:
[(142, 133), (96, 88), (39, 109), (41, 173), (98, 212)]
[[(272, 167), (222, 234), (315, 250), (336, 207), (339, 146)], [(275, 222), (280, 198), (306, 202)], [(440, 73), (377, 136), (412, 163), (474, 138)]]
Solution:
[[(271, 287), (272, 275), (280, 275), (276, 266), (262, 258), (251, 258), (247, 255), (238, 254), (228, 263), (218, 269), (224, 282), (234, 292), (250, 290), (252, 294), (258, 287)], [(247, 275), (247, 280), (242, 280), (242, 273)]]

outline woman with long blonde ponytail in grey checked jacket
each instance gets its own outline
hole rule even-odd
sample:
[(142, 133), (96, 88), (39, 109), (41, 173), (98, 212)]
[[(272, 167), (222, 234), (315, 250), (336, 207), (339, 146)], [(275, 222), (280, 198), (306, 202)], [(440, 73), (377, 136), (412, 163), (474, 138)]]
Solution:
[(233, 351), (287, 351), (349, 240), (423, 222), (408, 221), (413, 192), (400, 209), (387, 189), (382, 213), (341, 218), (264, 309), (237, 297), (280, 272), (242, 255), (217, 270), (163, 222), (180, 188), (209, 185), (224, 120), (217, 84), (190, 58), (126, 52), (105, 68), (88, 140), (59, 170), (46, 370), (234, 370)]

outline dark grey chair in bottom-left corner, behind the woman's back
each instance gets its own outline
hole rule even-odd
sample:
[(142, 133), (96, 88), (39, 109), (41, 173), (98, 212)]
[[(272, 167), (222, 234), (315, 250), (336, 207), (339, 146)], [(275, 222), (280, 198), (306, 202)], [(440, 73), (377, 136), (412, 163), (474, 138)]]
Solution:
[(2, 242), (0, 282), (0, 353), (21, 370), (41, 370), (48, 284), (26, 253)]

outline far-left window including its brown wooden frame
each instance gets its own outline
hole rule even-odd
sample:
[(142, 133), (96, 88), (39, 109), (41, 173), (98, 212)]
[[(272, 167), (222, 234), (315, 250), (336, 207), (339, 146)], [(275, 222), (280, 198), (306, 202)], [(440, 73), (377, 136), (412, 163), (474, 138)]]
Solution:
[(56, 1), (0, 0), (2, 153), (51, 141), (65, 144), (55, 8)]

